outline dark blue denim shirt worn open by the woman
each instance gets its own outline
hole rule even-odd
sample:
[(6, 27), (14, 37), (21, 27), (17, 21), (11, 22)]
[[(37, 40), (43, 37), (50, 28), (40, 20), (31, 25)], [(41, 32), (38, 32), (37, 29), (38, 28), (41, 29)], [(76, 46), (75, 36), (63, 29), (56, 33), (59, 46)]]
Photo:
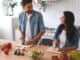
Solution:
[[(56, 40), (59, 40), (60, 41), (60, 38), (59, 38), (59, 36), (60, 36), (60, 34), (61, 34), (61, 32), (62, 32), (62, 28), (59, 26), (58, 27), (58, 29), (57, 29), (57, 31), (56, 31), (56, 34), (55, 34), (55, 36), (54, 36), (54, 39), (56, 39)], [(79, 32), (78, 32), (78, 30), (76, 29), (75, 30), (75, 34), (74, 34), (74, 44), (72, 45), (71, 43), (70, 43), (70, 40), (67, 40), (68, 38), (66, 38), (66, 42), (65, 42), (65, 46), (66, 47), (71, 47), (71, 46), (73, 46), (73, 47), (75, 47), (75, 48), (78, 48), (78, 46), (79, 46)], [(59, 46), (58, 46), (59, 47)]]

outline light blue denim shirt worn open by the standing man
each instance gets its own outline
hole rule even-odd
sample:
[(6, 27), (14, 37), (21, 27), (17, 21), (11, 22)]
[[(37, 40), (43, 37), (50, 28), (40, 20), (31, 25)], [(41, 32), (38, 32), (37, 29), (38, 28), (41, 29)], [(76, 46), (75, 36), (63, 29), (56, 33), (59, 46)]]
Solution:
[[(23, 33), (25, 38), (27, 16), (25, 12), (21, 12), (18, 21), (19, 29)], [(30, 28), (31, 36), (34, 38), (39, 32), (45, 32), (45, 27), (43, 23), (43, 16), (37, 11), (32, 11), (32, 16), (30, 18)]]

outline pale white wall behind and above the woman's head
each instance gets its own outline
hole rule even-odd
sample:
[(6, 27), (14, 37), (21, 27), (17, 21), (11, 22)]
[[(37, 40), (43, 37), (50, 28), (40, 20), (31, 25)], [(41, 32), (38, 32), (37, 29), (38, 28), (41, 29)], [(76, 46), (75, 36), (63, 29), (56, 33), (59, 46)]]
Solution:
[(47, 27), (57, 27), (59, 25), (59, 17), (63, 11), (73, 11), (75, 14), (77, 26), (80, 26), (80, 0), (57, 0), (47, 5), (44, 14), (44, 22)]

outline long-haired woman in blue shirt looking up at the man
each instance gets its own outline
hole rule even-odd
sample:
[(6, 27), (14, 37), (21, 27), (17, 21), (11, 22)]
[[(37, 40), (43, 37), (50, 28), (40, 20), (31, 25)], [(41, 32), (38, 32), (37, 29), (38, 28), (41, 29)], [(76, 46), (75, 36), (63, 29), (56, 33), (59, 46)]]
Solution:
[(66, 47), (66, 49), (78, 48), (79, 33), (74, 26), (74, 14), (70, 11), (64, 11), (60, 19), (61, 24), (55, 34), (53, 46), (59, 46), (60, 48)]

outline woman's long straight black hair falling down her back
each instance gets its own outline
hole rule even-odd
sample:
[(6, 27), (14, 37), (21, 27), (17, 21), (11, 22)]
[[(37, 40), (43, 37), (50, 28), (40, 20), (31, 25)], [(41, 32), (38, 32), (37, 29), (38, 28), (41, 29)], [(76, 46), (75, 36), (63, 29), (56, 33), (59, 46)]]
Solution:
[[(65, 17), (65, 25), (66, 25), (66, 37), (67, 40), (70, 41), (71, 44), (74, 43), (74, 34), (75, 34), (75, 18), (74, 14), (70, 11), (64, 11), (64, 17)], [(62, 25), (64, 27), (64, 25)], [(64, 27), (65, 28), (65, 27)]]

